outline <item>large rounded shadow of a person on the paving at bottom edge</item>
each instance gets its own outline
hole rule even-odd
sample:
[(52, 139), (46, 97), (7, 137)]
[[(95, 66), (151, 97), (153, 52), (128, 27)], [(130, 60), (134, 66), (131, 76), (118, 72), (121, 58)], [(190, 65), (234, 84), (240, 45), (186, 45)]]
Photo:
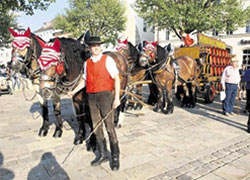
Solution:
[(70, 180), (51, 152), (42, 155), (40, 163), (28, 173), (28, 180)]

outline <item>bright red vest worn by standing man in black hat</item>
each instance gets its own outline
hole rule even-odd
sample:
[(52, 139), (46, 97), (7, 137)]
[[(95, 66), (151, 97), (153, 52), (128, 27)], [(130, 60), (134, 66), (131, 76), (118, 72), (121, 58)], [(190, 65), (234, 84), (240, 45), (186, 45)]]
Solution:
[(90, 58), (87, 60), (87, 93), (112, 91), (114, 80), (106, 68), (107, 56), (103, 55), (99, 61), (94, 63)]

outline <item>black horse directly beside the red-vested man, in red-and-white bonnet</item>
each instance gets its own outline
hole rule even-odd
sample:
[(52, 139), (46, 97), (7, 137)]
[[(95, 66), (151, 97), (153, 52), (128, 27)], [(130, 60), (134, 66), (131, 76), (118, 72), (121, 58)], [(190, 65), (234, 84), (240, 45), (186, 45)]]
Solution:
[[(40, 94), (45, 100), (54, 99), (58, 108), (60, 108), (60, 95), (72, 91), (82, 79), (84, 62), (89, 57), (89, 53), (85, 51), (87, 48), (80, 41), (81, 38), (78, 40), (71, 38), (52, 39), (43, 48), (38, 60), (42, 69)], [(73, 96), (73, 104), (79, 123), (74, 144), (81, 144), (86, 135), (85, 123), (89, 124), (88, 127), (93, 131), (85, 88)], [(58, 132), (62, 132), (62, 121), (58, 122), (60, 128)], [(43, 132), (47, 131), (47, 123), (47, 121), (44, 121)], [(92, 134), (90, 137), (92, 148), (95, 148), (95, 142), (95, 135)]]

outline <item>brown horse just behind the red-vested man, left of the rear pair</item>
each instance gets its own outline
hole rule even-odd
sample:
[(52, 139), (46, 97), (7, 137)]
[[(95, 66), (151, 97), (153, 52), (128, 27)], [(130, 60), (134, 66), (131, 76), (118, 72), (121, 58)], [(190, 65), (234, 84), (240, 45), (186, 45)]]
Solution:
[[(125, 40), (125, 41), (120, 41), (118, 40), (119, 44), (117, 45), (116, 49), (117, 51), (125, 56), (125, 58), (128, 61), (128, 79), (129, 79), (129, 87), (130, 91), (136, 90), (136, 94), (138, 95), (138, 99), (142, 100), (142, 86), (143, 84), (137, 84), (133, 85), (134, 83), (138, 81), (144, 81), (144, 80), (150, 80), (148, 72), (145, 70), (145, 68), (141, 67), (139, 65), (139, 57), (140, 57), (140, 52), (136, 46), (134, 46), (131, 42)], [(155, 99), (157, 97), (157, 87), (154, 84), (149, 84), (149, 90), (150, 90), (150, 95), (148, 98), (148, 104), (152, 105), (155, 103)], [(131, 97), (129, 97), (132, 99)], [(127, 108), (134, 108), (136, 109), (141, 109), (142, 104), (140, 102), (138, 103), (128, 103)]]

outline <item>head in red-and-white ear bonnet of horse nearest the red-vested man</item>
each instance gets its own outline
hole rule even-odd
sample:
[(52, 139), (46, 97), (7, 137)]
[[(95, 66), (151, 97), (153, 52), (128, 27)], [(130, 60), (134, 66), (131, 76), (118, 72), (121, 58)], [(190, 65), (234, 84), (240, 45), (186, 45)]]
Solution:
[(38, 59), (39, 66), (42, 70), (40, 76), (40, 95), (45, 99), (53, 96), (56, 79), (58, 75), (64, 72), (64, 61), (60, 53), (61, 43), (59, 39), (47, 43)]

